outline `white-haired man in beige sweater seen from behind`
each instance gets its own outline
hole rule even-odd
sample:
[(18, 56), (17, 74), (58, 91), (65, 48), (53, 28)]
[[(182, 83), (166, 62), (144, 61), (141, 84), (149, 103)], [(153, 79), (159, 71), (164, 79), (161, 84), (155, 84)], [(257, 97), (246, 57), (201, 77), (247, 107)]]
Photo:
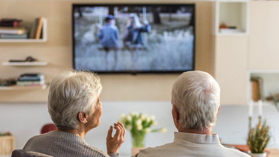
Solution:
[(172, 88), (172, 116), (178, 132), (174, 142), (139, 151), (137, 157), (148, 156), (250, 156), (225, 148), (217, 134), (212, 134), (220, 110), (220, 87), (203, 71), (182, 73)]

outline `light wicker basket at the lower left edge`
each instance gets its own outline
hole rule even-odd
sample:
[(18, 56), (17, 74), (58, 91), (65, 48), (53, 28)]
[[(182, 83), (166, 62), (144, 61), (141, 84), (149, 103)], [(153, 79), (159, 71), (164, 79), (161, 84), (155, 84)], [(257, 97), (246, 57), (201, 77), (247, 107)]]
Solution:
[(15, 137), (9, 132), (3, 132), (0, 136), (0, 154), (12, 154), (15, 149)]

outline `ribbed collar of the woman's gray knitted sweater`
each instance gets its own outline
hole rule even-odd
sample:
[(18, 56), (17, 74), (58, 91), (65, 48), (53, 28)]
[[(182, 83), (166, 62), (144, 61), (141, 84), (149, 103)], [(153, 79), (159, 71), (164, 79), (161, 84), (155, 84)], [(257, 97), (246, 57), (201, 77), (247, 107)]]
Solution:
[(69, 132), (51, 131), (51, 132), (45, 133), (43, 135), (51, 136), (51, 137), (57, 137), (57, 138), (61, 138), (61, 139), (65, 139), (65, 140), (69, 140), (69, 141), (73, 141), (73, 142), (79, 142), (79, 143), (87, 144), (82, 137), (77, 136), (75, 134), (71, 134)]

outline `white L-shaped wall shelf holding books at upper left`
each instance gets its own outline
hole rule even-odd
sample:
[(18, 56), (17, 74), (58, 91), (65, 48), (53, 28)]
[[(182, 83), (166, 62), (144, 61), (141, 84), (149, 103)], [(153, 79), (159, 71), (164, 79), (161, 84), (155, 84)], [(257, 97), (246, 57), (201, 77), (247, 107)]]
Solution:
[(0, 39), (0, 43), (44, 43), (47, 42), (47, 19), (43, 21), (41, 39)]

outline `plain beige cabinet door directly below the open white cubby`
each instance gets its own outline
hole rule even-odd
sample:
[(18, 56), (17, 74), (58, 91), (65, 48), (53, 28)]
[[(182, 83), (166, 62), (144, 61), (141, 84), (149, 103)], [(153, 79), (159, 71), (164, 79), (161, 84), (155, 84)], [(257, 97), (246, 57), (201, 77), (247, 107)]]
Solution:
[(215, 78), (222, 105), (246, 103), (248, 37), (215, 37)]

